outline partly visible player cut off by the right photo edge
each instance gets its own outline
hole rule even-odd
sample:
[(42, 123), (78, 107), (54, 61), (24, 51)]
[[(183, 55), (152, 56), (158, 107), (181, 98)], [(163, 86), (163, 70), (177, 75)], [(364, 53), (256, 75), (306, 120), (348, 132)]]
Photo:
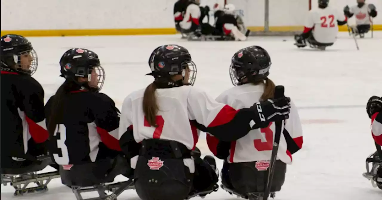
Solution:
[(382, 189), (382, 97), (372, 96), (366, 105), (366, 111), (371, 119), (371, 132), (376, 143), (377, 151), (366, 159), (366, 164), (372, 164), (366, 168), (363, 176)]

